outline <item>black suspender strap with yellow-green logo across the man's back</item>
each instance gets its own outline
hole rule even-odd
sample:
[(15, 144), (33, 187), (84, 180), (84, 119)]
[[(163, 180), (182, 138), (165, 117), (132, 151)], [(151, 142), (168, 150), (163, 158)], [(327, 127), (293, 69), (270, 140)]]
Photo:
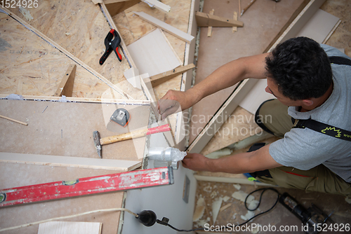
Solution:
[(316, 132), (321, 132), (325, 135), (331, 137), (336, 137), (338, 139), (344, 139), (345, 141), (351, 142), (351, 132), (343, 130), (341, 128), (336, 128), (332, 125), (314, 121), (312, 119), (307, 120), (296, 120), (293, 128), (310, 128)]

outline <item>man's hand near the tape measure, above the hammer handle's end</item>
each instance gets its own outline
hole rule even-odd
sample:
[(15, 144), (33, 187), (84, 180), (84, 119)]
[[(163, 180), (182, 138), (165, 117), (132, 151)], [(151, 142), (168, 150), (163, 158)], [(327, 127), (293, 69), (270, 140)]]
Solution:
[(182, 92), (176, 90), (168, 90), (166, 95), (159, 99), (158, 109), (161, 119), (165, 119), (172, 113), (177, 113), (188, 109), (194, 104), (189, 92)]

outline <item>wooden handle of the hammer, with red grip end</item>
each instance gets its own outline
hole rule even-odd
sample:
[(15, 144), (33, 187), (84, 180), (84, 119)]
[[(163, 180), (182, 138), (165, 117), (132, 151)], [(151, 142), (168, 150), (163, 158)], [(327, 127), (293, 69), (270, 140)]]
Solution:
[(154, 134), (157, 132), (166, 132), (170, 131), (171, 128), (169, 127), (169, 124), (166, 125), (161, 125), (159, 127), (155, 128), (149, 128), (149, 129), (143, 129), (143, 130), (138, 130), (134, 132), (127, 132), (121, 135), (117, 136), (112, 136), (112, 137), (104, 137), (100, 139), (100, 144), (111, 144), (114, 142), (121, 142), (125, 141), (127, 139), (134, 139), (134, 138), (139, 138), (139, 137), (145, 137), (146, 135)]

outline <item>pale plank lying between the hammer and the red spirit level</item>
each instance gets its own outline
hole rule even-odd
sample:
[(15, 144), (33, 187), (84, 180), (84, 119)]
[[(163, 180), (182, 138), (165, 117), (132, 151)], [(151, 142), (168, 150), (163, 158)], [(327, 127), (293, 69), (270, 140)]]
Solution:
[(105, 158), (83, 158), (71, 156), (51, 156), (30, 153), (0, 152), (1, 163), (30, 163), (52, 167), (79, 167), (101, 170), (115, 170), (128, 172), (141, 166), (140, 161), (117, 160)]

